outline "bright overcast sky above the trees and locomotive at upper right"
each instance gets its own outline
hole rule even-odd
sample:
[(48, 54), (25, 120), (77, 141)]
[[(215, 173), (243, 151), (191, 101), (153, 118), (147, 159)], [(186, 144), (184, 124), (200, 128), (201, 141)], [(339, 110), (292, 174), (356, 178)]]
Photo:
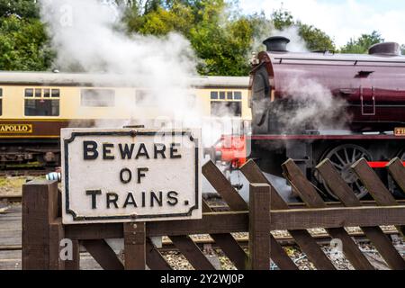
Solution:
[(387, 41), (405, 44), (403, 0), (239, 0), (247, 13), (267, 15), (282, 6), (296, 19), (327, 32), (338, 46), (362, 33), (379, 31)]

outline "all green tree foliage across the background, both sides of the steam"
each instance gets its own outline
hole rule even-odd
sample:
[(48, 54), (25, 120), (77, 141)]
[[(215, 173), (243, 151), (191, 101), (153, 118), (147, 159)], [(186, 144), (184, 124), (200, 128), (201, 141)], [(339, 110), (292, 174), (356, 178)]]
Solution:
[[(266, 17), (264, 13), (241, 14), (238, 0), (100, 1), (124, 9), (122, 23), (129, 34), (183, 34), (201, 59), (198, 71), (202, 75), (247, 76), (251, 52), (263, 49), (261, 42), (268, 36), (290, 28), (309, 50), (337, 50), (324, 31), (295, 20), (283, 9)], [(374, 31), (348, 41), (340, 51), (365, 53), (381, 41), (381, 35)], [(49, 49), (37, 1), (0, 0), (0, 52), (0, 69), (49, 70), (55, 53)]]

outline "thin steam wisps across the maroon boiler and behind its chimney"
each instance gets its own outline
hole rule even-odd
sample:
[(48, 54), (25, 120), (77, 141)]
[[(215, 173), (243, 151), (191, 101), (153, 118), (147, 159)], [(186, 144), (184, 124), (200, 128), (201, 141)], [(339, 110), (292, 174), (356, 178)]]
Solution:
[[(287, 27), (284, 30), (275, 29), (273, 23), (262, 22), (256, 27), (258, 33), (263, 37), (264, 31), (270, 31), (271, 37), (284, 37), (289, 40), (285, 53), (311, 53), (307, 43), (300, 36), (298, 26)], [(254, 41), (256, 47), (264, 48), (263, 38), (261, 46), (258, 39)], [(266, 47), (265, 47), (266, 48)], [(271, 49), (270, 54), (274, 53)], [(277, 51), (275, 53), (278, 53)], [(328, 53), (328, 52), (326, 52)], [(273, 87), (274, 88), (274, 87)], [(343, 99), (335, 97), (328, 87), (319, 83), (311, 76), (302, 75), (301, 70), (292, 71), (292, 74), (286, 83), (283, 84), (283, 94), (288, 95), (288, 99), (295, 103), (292, 106), (283, 109), (273, 110), (273, 118), (282, 126), (282, 131), (291, 133), (302, 130), (303, 126), (312, 127), (312, 129), (322, 131), (347, 130), (347, 122), (350, 115), (345, 112), (346, 102)], [(265, 105), (268, 103), (264, 102)], [(262, 107), (266, 111), (266, 107)], [(311, 129), (311, 130), (312, 130)]]

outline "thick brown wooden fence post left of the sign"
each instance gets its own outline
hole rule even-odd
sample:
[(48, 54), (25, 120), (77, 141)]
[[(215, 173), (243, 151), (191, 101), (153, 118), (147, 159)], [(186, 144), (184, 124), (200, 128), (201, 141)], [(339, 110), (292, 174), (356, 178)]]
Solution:
[(57, 217), (56, 181), (36, 180), (23, 184), (24, 270), (63, 268), (58, 261), (58, 243), (64, 237), (64, 231)]

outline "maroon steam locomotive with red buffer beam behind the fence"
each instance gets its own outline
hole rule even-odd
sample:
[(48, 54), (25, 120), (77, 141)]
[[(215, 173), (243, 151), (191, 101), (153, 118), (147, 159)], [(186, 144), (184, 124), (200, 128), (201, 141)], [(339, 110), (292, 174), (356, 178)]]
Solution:
[[(385, 42), (368, 55), (289, 52), (284, 37), (264, 41), (250, 75), (252, 134), (222, 138), (222, 160), (240, 166), (248, 157), (270, 175), (293, 158), (325, 197), (335, 199), (314, 167), (329, 158), (358, 198), (366, 188), (350, 169), (364, 157), (385, 174), (393, 157), (405, 160), (405, 57)], [(243, 142), (244, 145), (240, 145)], [(242, 153), (243, 152), (243, 153)]]

